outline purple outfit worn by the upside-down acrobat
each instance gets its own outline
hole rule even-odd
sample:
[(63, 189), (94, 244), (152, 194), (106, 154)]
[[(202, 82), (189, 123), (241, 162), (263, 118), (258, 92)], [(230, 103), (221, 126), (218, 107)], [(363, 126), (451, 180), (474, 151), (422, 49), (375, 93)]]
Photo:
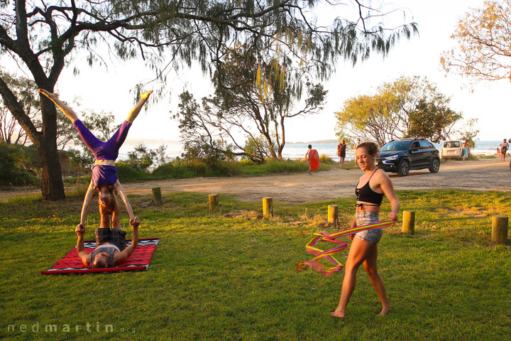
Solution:
[[(84, 141), (85, 146), (89, 148), (96, 160), (116, 160), (131, 123), (123, 121), (123, 124), (117, 129), (116, 133), (106, 142), (99, 141), (86, 126), (77, 119), (73, 125), (78, 131), (79, 136)], [(101, 185), (113, 186), (117, 181), (117, 168), (115, 166), (94, 165), (92, 167), (92, 185), (99, 187)]]

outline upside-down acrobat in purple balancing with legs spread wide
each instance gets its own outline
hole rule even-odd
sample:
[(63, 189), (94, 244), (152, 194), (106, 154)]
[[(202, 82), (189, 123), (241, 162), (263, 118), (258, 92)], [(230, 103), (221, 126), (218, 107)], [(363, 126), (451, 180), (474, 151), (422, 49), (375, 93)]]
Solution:
[(153, 92), (153, 90), (144, 92), (141, 94), (141, 99), (138, 101), (135, 107), (131, 109), (131, 112), (128, 114), (128, 118), (126, 121), (123, 121), (119, 130), (116, 131), (114, 136), (112, 136), (109, 141), (102, 142), (94, 136), (94, 134), (87, 129), (86, 126), (80, 121), (77, 117), (77, 114), (64, 102), (62, 102), (57, 94), (53, 94), (43, 89), (39, 89), (39, 92), (44, 94), (46, 97), (52, 100), (57, 107), (66, 115), (68, 119), (72, 122), (75, 128), (78, 131), (79, 136), (82, 138), (85, 146), (89, 148), (89, 151), (92, 152), (94, 158), (94, 167), (92, 167), (92, 178), (89, 184), (89, 188), (87, 189), (87, 193), (84, 197), (84, 202), (82, 205), (82, 213), (80, 215), (80, 224), (84, 226), (85, 220), (87, 219), (87, 212), (89, 210), (89, 204), (92, 198), (92, 195), (96, 190), (99, 191), (99, 202), (103, 203), (103, 205), (108, 206), (111, 202), (111, 189), (114, 188), (119, 195), (121, 195), (121, 200), (124, 202), (124, 206), (126, 207), (126, 211), (128, 211), (128, 215), (130, 217), (130, 224), (135, 219), (135, 215), (133, 215), (133, 210), (131, 209), (131, 205), (128, 201), (128, 197), (124, 192), (124, 188), (121, 183), (119, 183), (119, 179), (117, 178), (117, 168), (115, 166), (115, 161), (117, 156), (119, 156), (119, 148), (121, 148), (124, 140), (126, 139), (126, 135), (128, 135), (128, 130), (133, 123), (133, 121), (138, 116), (138, 113), (141, 111), (143, 105), (147, 101), (149, 95)]

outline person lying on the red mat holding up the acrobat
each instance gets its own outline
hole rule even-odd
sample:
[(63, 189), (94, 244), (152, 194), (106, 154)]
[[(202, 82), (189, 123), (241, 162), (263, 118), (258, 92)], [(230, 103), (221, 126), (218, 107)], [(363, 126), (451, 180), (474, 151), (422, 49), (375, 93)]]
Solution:
[[(140, 220), (134, 217), (130, 221), (133, 227), (131, 236), (131, 246), (126, 247), (126, 232), (121, 229), (119, 223), (119, 205), (114, 194), (111, 197), (111, 203), (108, 206), (102, 205), (99, 200), (99, 213), (101, 214), (101, 223), (96, 229), (96, 249), (90, 254), (84, 251), (84, 233), (85, 227), (78, 224), (75, 232), (78, 235), (77, 252), (84, 266), (92, 268), (109, 268), (117, 266), (133, 254), (138, 245), (138, 225)], [(110, 229), (109, 216), (111, 215), (112, 229)]]

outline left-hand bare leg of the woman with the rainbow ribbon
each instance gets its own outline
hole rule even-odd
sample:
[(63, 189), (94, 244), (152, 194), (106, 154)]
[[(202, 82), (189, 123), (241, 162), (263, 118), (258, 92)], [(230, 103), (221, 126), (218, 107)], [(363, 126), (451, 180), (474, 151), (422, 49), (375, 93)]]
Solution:
[(346, 305), (348, 305), (351, 294), (355, 290), (358, 267), (361, 266), (363, 261), (368, 259), (368, 256), (374, 252), (375, 248), (376, 244), (363, 241), (357, 237), (353, 238), (348, 252), (348, 259), (346, 259), (346, 266), (344, 266), (344, 279), (339, 305), (337, 305), (336, 310), (331, 312), (334, 318), (346, 317)]

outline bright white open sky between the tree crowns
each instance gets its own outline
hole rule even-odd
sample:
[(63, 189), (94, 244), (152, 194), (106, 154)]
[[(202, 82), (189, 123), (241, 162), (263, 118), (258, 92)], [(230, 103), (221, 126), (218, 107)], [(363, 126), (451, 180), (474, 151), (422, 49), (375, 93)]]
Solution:
[[(511, 83), (481, 82), (471, 90), (466, 87), (466, 80), (457, 75), (445, 75), (439, 65), (442, 51), (449, 50), (454, 44), (449, 37), (458, 19), (470, 7), (482, 6), (483, 0), (395, 0), (392, 4), (407, 9), (406, 21), (418, 24), (419, 36), (401, 40), (385, 59), (373, 54), (369, 60), (355, 67), (351, 63), (339, 63), (336, 74), (325, 84), (329, 92), (324, 110), (314, 116), (287, 121), (287, 141), (335, 139), (334, 112), (341, 109), (346, 99), (372, 94), (383, 82), (414, 75), (427, 76), (430, 82), (436, 83), (440, 92), (452, 97), (452, 109), (462, 112), (466, 118), (477, 118), (480, 130), (478, 139), (509, 138), (511, 131), (506, 98)], [(113, 112), (120, 123), (133, 106), (133, 95), (129, 90), (137, 82), (153, 77), (150, 71), (140, 65), (140, 62), (115, 63), (109, 65), (108, 70), (84, 65), (80, 67), (81, 73), (77, 77), (72, 76), (71, 68), (65, 69), (57, 83), (57, 90), (67, 102), (80, 96), (84, 107), (97, 112)], [(177, 94), (185, 87), (197, 99), (211, 93), (209, 79), (202, 75), (199, 67), (170, 75), (167, 86), (172, 91), (172, 97), (142, 112), (130, 130), (128, 141), (143, 140), (148, 144), (158, 144), (160, 140), (179, 140), (178, 123), (170, 118), (170, 112), (177, 111)]]

